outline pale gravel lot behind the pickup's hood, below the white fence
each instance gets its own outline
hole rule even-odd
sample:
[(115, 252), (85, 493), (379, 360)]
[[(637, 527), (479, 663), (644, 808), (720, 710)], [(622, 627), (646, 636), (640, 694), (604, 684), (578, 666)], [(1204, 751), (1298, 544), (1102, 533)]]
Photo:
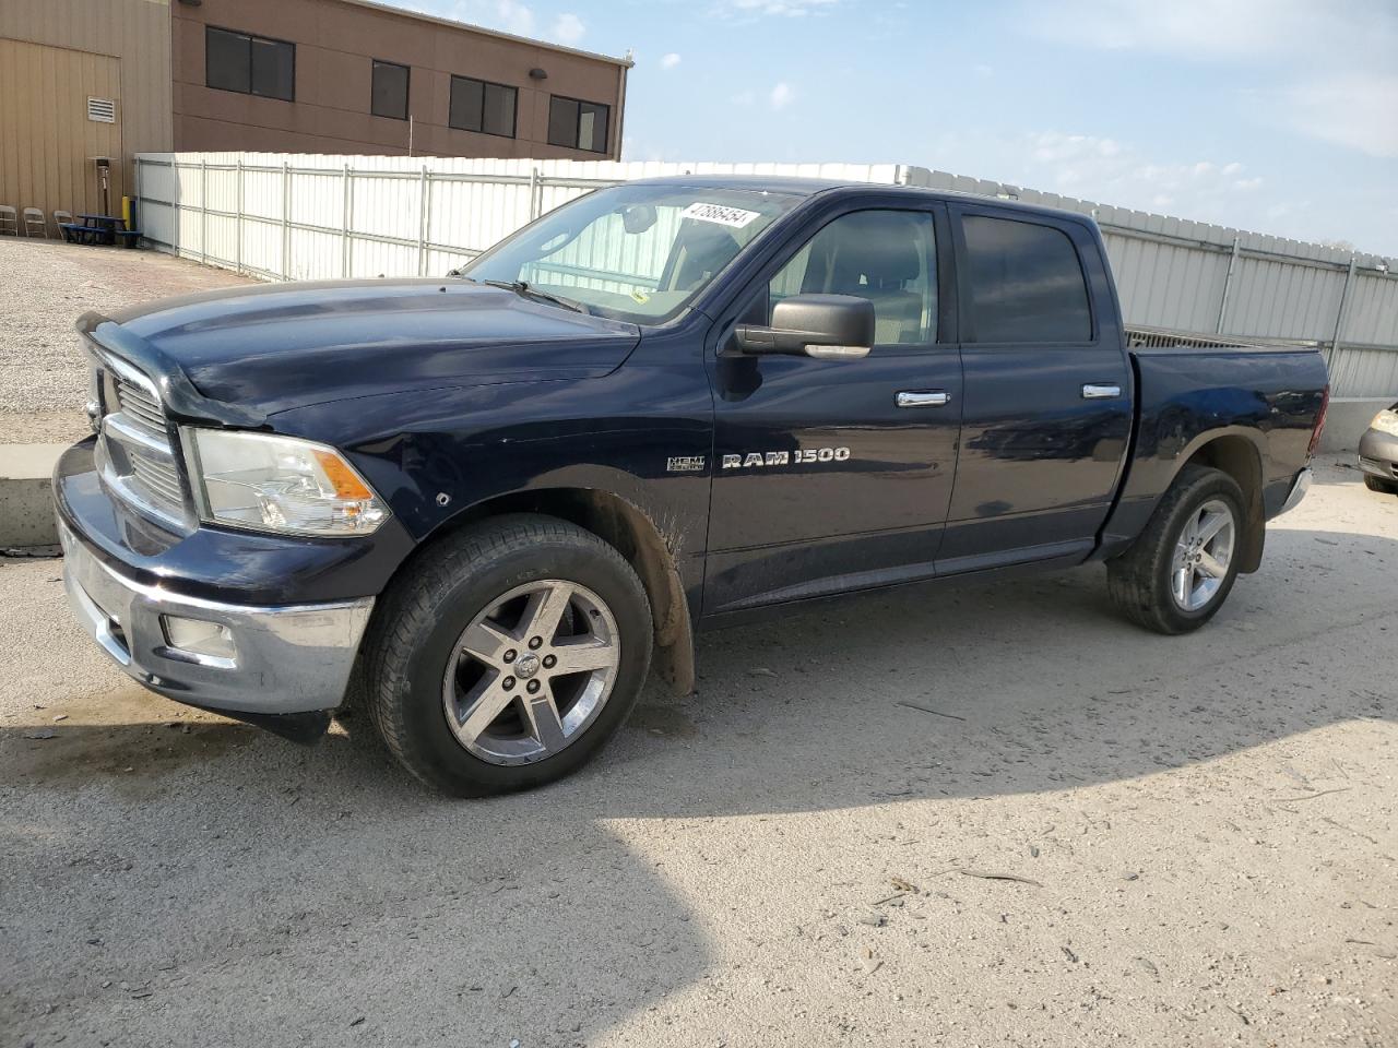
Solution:
[(0, 238), (0, 444), (87, 436), (87, 361), (73, 321), (89, 309), (249, 284), (225, 270), (159, 252)]

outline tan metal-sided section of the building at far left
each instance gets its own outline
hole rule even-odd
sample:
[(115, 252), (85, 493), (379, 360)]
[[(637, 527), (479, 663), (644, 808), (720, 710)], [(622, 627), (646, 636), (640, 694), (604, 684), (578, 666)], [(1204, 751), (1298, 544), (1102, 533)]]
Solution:
[[(98, 211), (105, 155), (120, 207), (133, 154), (173, 144), (169, 29), (168, 0), (0, 0), (0, 204)], [(88, 120), (89, 95), (116, 123)]]

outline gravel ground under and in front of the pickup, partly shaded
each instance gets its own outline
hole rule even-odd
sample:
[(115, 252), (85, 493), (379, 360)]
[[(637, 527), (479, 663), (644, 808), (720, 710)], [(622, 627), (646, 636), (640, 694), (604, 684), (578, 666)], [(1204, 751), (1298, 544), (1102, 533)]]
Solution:
[(1338, 461), (1201, 633), (1100, 569), (714, 633), (485, 802), (143, 692), (57, 574), (0, 565), (6, 1044), (1398, 1044), (1398, 499)]

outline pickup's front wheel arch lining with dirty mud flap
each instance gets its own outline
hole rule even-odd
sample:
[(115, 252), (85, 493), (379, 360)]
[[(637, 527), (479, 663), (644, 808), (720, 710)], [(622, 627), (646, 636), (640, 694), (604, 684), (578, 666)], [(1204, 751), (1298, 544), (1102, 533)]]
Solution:
[(421, 556), (463, 528), (506, 513), (558, 517), (593, 532), (615, 548), (640, 577), (650, 601), (654, 627), (651, 665), (677, 694), (689, 694), (693, 690), (693, 625), (674, 552), (656, 523), (637, 506), (614, 492), (559, 486), (482, 499), (435, 528), (410, 559)]

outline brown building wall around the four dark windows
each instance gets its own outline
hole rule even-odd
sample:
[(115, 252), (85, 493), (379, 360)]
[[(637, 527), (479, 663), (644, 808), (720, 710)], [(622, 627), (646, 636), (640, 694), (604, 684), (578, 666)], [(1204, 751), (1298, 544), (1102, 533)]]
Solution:
[[(370, 113), (372, 60), (411, 67), (412, 152), (439, 157), (607, 159), (619, 155), (625, 66), (352, 0), (176, 3), (173, 113), (178, 151), (407, 154), (408, 122)], [(214, 25), (296, 45), (295, 101), (206, 85)], [(531, 68), (548, 78), (531, 80)], [(519, 89), (516, 137), (449, 127), (452, 74)], [(548, 144), (549, 96), (611, 106), (608, 151)]]

